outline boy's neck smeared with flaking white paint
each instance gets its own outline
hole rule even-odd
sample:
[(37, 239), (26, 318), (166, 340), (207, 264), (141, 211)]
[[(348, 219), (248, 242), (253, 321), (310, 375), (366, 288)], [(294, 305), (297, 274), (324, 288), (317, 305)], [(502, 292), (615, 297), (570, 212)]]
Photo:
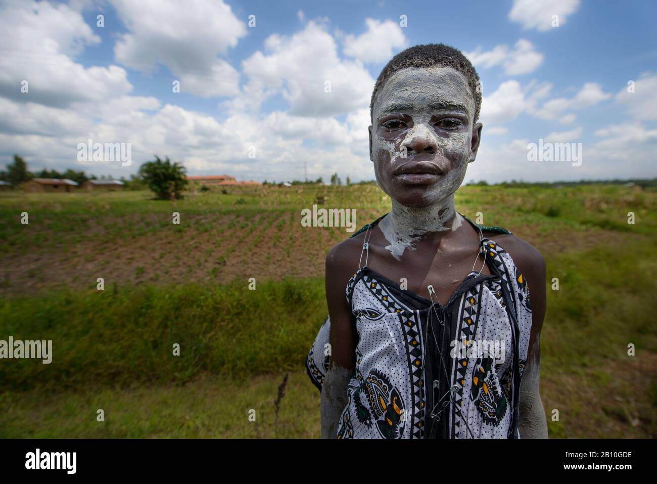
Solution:
[(461, 226), (463, 217), (454, 207), (454, 195), (429, 206), (413, 208), (392, 201), (392, 210), (378, 226), (390, 245), (386, 247), (399, 260), (406, 249), (415, 250), (415, 242), (434, 233), (442, 237)]

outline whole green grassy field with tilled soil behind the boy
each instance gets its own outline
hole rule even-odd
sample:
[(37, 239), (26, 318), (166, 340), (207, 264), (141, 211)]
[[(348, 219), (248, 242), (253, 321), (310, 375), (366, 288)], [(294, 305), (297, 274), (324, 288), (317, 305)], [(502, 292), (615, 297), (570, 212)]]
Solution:
[[(323, 198), (359, 228), (390, 201), (376, 185), (227, 192), (0, 193), (0, 339), (53, 340), (51, 364), (0, 360), (0, 437), (319, 437), (304, 361), (325, 254), (350, 233), (301, 210)], [(468, 186), (457, 208), (546, 258), (550, 436), (655, 437), (656, 190)]]

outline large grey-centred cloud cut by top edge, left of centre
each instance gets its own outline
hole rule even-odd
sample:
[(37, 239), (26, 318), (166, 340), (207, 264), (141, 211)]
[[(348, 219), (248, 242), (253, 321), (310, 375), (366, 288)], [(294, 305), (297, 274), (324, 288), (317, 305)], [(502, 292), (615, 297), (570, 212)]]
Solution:
[[(217, 56), (246, 35), (221, 0), (110, 0), (127, 28), (114, 46), (116, 61), (142, 72), (167, 66), (181, 91), (201, 97), (235, 95), (239, 74)], [(257, 20), (257, 19), (256, 19)]]

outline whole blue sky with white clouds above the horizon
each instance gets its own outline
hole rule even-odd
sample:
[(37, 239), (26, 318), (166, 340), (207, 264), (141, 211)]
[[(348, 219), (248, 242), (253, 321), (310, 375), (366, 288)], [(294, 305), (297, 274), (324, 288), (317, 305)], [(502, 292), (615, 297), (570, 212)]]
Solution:
[[(19, 153), (32, 169), (127, 177), (157, 154), (189, 174), (283, 181), (302, 179), (305, 164), (309, 178), (371, 180), (376, 77), (405, 47), (443, 42), (483, 85), (482, 147), (466, 181), (657, 176), (652, 2), (0, 5), (0, 164)], [(90, 138), (131, 143), (131, 165), (78, 160)], [(581, 166), (529, 161), (539, 139), (581, 143)]]

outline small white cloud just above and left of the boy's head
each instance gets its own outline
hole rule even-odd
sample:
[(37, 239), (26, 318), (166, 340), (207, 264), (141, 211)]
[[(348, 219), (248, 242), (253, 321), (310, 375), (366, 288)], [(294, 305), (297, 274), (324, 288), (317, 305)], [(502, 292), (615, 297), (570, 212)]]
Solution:
[(344, 37), (344, 55), (355, 57), (363, 62), (388, 62), (394, 49), (403, 49), (408, 44), (397, 22), (379, 22), (366, 18), (367, 32), (359, 36)]

